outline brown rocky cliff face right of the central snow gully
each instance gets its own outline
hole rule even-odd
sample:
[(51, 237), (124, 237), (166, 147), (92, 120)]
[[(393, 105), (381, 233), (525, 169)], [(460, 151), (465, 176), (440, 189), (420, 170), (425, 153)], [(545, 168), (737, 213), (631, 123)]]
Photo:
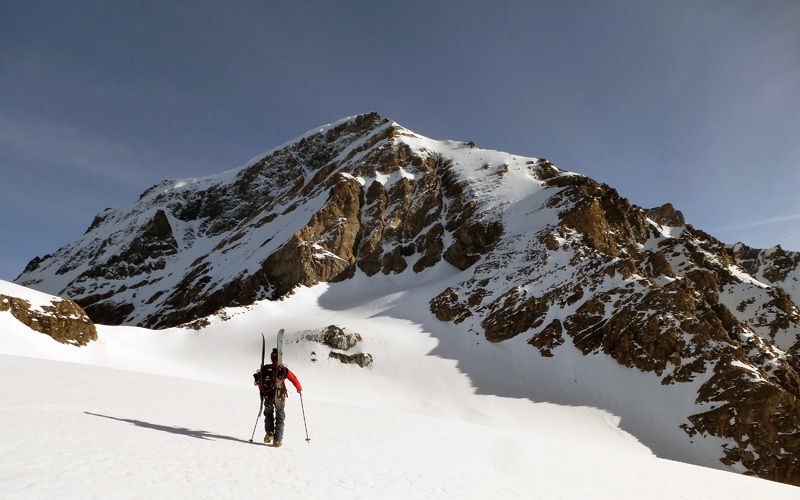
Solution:
[(672, 207), (642, 210), (584, 177), (546, 185), (561, 188), (542, 206), (558, 221), (537, 232), (505, 226), (431, 311), (492, 342), (524, 334), (542, 356), (571, 342), (665, 385), (701, 381), (682, 428), (723, 438), (726, 464), (800, 485), (800, 311), (746, 272), (760, 262), (760, 274), (783, 283), (796, 255), (726, 247)]

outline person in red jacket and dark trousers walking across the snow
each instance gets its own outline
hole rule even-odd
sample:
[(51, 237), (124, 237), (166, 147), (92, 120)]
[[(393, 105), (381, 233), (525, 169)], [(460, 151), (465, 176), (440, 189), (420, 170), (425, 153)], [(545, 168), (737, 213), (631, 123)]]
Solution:
[[(264, 366), (263, 374), (259, 369), (253, 374), (253, 378), (255, 378), (255, 385), (258, 386), (261, 400), (264, 403), (264, 429), (267, 431), (264, 436), (264, 444), (272, 443), (273, 446), (278, 447), (283, 444), (283, 424), (286, 420), (286, 411), (284, 410), (284, 402), (288, 395), (286, 379), (289, 379), (298, 393), (303, 391), (303, 387), (289, 368), (278, 364), (278, 349), (272, 349), (270, 358), (272, 364)], [(280, 383), (279, 389), (276, 388), (277, 381)]]

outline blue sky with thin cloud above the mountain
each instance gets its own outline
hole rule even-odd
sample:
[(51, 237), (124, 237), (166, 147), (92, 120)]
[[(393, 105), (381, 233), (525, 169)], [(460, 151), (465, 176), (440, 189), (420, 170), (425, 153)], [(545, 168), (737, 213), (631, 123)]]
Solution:
[(800, 2), (0, 1), (0, 279), (359, 113), (800, 250)]

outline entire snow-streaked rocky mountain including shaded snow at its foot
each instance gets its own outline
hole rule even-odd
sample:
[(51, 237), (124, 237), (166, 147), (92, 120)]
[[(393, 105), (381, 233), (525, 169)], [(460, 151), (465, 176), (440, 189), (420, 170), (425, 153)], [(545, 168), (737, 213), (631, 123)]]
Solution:
[(478, 393), (608, 410), (658, 456), (800, 484), (799, 262), (370, 114), (154, 186), (16, 281), (97, 323), (200, 332), (335, 283), (321, 307), (385, 301)]

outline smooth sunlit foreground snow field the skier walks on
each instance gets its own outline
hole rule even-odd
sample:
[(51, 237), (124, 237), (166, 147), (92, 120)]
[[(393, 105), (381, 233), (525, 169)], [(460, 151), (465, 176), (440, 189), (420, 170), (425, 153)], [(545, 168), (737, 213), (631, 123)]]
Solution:
[[(0, 355), (2, 498), (792, 498), (647, 453), (305, 397), (280, 449), (252, 390)], [(254, 401), (255, 400), (255, 401)], [(255, 403), (255, 404), (254, 404)], [(263, 437), (261, 422), (256, 440)], [(9, 460), (8, 457), (13, 457)]]

